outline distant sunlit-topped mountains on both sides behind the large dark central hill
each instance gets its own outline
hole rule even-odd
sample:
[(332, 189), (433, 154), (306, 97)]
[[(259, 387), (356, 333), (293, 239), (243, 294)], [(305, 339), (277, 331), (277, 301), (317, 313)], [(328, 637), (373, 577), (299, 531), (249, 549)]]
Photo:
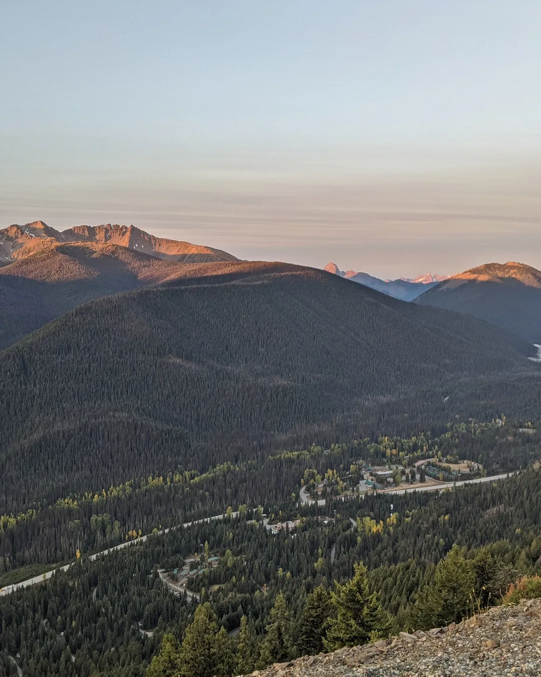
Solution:
[[(223, 250), (158, 238), (130, 225), (77, 225), (55, 230), (43, 221), (0, 230), (0, 349), (92, 299), (177, 278), (235, 270)], [(461, 274), (381, 280), (367, 273), (325, 271), (387, 296), (467, 313), (541, 343), (541, 272), (523, 263), (488, 263)]]

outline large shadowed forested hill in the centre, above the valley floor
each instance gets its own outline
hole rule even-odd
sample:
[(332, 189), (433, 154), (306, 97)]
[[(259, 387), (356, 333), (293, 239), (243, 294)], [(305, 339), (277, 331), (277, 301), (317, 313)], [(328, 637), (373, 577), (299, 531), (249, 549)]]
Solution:
[(0, 354), (2, 507), (375, 431), (459, 382), (536, 370), (478, 320), (323, 271), (229, 265), (79, 306)]

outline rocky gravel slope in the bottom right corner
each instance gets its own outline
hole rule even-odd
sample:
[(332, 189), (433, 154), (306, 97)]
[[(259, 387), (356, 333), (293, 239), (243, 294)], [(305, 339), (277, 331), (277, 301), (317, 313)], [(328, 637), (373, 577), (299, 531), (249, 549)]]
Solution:
[(541, 675), (541, 600), (494, 607), (461, 624), (304, 656), (253, 677), (509, 677)]

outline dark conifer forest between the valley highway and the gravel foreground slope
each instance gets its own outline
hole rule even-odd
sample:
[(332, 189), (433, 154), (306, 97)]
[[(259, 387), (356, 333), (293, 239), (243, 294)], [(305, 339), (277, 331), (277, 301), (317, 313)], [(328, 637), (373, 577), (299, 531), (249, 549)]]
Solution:
[[(483, 605), (498, 603), (521, 575), (538, 571), (540, 472), (444, 494), (393, 496), (392, 514), (381, 495), (304, 508), (290, 500), (274, 514), (300, 519), (291, 533), (271, 533), (260, 511), (246, 510), (97, 561), (83, 556), (47, 584), (0, 598), (4, 669), (16, 674), (13, 656), (32, 676), (166, 674), (160, 672), (164, 638), (165, 649), (172, 642), (182, 653), (197, 621), (216, 624), (215, 636), (225, 629), (215, 669), (231, 675), (236, 661), (253, 668), (348, 643), (339, 598), (353, 584), (355, 594), (373, 599), (378, 619), (377, 627), (358, 619), (354, 645), (362, 632), (366, 641), (460, 619), (471, 611), (471, 589), (485, 596)], [(188, 578), (188, 600), (168, 590), (160, 573), (180, 569), (196, 553), (200, 568)], [(206, 567), (214, 558), (216, 565)], [(324, 618), (310, 611), (314, 595), (316, 609), (327, 600)], [(204, 607), (206, 616), (194, 621)], [(149, 667), (153, 655), (158, 659)]]

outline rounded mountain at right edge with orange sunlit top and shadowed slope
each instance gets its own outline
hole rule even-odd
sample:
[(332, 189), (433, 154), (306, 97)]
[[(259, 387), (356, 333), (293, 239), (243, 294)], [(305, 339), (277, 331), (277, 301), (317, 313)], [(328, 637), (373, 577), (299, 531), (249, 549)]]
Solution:
[(523, 263), (487, 263), (427, 290), (421, 305), (469, 313), (525, 341), (541, 343), (541, 271)]

